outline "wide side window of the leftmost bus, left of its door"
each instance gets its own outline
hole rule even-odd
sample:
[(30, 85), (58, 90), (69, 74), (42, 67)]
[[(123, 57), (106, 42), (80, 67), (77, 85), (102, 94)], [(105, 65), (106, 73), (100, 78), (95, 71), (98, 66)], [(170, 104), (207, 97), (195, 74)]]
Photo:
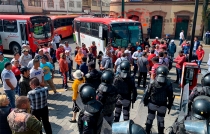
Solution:
[(16, 20), (4, 20), (3, 21), (4, 32), (18, 32)]

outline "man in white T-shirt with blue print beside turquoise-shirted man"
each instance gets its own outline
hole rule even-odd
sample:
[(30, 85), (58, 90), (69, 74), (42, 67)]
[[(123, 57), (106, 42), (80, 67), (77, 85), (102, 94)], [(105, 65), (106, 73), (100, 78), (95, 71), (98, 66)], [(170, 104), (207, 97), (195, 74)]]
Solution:
[(33, 64), (34, 64), (34, 66), (30, 70), (30, 78), (36, 77), (40, 82), (40, 86), (45, 86), (44, 71), (42, 68), (40, 68), (40, 60), (34, 59)]

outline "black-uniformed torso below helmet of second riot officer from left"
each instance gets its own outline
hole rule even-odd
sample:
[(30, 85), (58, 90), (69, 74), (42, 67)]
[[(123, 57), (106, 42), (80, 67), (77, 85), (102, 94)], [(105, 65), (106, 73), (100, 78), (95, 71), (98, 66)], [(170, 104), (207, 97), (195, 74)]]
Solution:
[(112, 85), (102, 83), (99, 85), (98, 94), (103, 96), (104, 102), (102, 103), (104, 115), (110, 116), (115, 109), (116, 89)]

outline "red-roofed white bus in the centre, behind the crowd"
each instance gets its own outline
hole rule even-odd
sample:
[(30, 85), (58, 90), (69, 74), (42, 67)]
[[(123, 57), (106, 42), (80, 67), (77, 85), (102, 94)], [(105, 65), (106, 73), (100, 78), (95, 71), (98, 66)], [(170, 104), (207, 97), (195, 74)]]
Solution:
[(74, 19), (74, 31), (77, 44), (89, 47), (95, 41), (97, 51), (103, 53), (108, 43), (117, 48), (143, 42), (141, 23), (130, 19), (78, 17)]

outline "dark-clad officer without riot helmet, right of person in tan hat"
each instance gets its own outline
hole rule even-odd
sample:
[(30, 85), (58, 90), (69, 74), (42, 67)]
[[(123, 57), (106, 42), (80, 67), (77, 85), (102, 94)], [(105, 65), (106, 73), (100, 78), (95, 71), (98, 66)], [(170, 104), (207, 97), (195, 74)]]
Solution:
[(94, 62), (89, 62), (88, 63), (88, 69), (89, 69), (89, 73), (87, 73), (85, 75), (85, 80), (86, 83), (91, 84), (96, 90), (98, 89), (98, 86), (101, 83), (101, 72), (97, 71), (95, 69), (95, 63)]

